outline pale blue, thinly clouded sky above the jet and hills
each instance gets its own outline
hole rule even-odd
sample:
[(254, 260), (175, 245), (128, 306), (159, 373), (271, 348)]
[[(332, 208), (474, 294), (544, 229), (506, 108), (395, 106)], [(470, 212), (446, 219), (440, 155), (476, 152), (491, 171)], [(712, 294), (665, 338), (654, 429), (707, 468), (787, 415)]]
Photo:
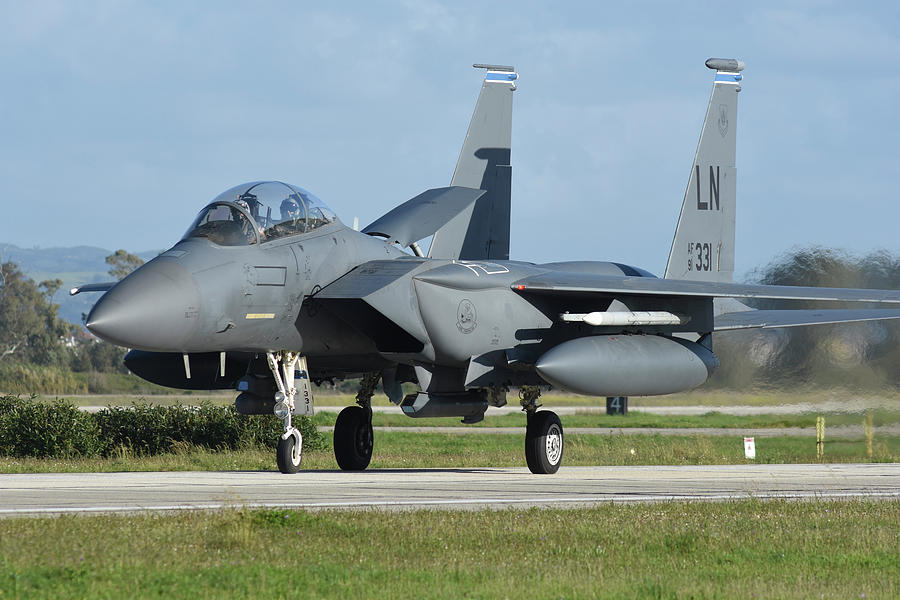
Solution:
[(746, 63), (736, 278), (900, 253), (900, 4), (0, 0), (0, 243), (164, 249), (276, 179), (365, 226), (449, 185), (515, 65), (511, 258), (665, 269), (713, 71)]

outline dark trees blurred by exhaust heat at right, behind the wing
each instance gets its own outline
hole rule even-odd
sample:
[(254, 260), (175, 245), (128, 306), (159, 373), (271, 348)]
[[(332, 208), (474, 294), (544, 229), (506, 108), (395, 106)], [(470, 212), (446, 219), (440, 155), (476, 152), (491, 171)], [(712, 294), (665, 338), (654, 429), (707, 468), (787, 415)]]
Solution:
[[(822, 247), (794, 249), (750, 274), (767, 285), (900, 289), (900, 256), (855, 256)], [(896, 305), (894, 305), (896, 306)], [(859, 303), (760, 300), (759, 309), (886, 308)], [(900, 388), (900, 320), (714, 334), (721, 367), (711, 384), (743, 388)]]

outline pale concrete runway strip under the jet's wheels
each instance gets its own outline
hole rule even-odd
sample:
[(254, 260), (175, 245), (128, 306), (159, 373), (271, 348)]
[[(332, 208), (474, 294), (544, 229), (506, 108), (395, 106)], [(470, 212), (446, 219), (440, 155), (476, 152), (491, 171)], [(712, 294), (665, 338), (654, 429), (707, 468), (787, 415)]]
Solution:
[(358, 473), (166, 472), (0, 475), (0, 516), (226, 507), (480, 509), (667, 500), (900, 498), (900, 463), (392, 469)]

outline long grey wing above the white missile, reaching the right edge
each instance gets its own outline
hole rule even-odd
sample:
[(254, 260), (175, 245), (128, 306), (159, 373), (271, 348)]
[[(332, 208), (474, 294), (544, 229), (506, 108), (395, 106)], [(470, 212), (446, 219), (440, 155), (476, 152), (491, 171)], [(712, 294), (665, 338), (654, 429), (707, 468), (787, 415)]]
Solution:
[(552, 271), (513, 282), (512, 289), (524, 293), (601, 294), (606, 296), (669, 296), (706, 298), (760, 298), (769, 300), (826, 300), (900, 304), (900, 290), (751, 285), (709, 281), (658, 279), (656, 277), (616, 277)]

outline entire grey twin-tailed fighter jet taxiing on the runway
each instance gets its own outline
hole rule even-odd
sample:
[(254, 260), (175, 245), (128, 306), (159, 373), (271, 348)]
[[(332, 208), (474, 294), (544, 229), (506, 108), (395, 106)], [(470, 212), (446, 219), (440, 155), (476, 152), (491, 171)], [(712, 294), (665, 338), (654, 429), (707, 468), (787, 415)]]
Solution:
[[(486, 76), (449, 187), (363, 229), (309, 191), (267, 181), (207, 204), (171, 249), (105, 291), (87, 319), (132, 348), (132, 372), (184, 389), (237, 389), (245, 414), (284, 420), (277, 463), (299, 470), (292, 417), (313, 414), (311, 382), (361, 377), (334, 429), (341, 469), (372, 456), (378, 380), (410, 417), (475, 423), (518, 388), (525, 458), (563, 456), (548, 387), (595, 396), (689, 390), (718, 365), (711, 335), (742, 328), (900, 318), (900, 308), (752, 310), (747, 298), (900, 304), (900, 292), (743, 285), (734, 271), (735, 136), (742, 62), (709, 59), (715, 81), (665, 276), (612, 262), (509, 259), (512, 67)], [(554, 226), (548, 223), (548, 226)], [(556, 226), (565, 227), (562, 222)], [(418, 242), (431, 237), (428, 252)], [(401, 383), (418, 385), (403, 396)]]

